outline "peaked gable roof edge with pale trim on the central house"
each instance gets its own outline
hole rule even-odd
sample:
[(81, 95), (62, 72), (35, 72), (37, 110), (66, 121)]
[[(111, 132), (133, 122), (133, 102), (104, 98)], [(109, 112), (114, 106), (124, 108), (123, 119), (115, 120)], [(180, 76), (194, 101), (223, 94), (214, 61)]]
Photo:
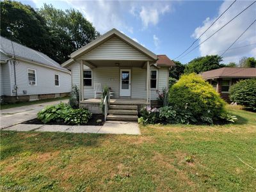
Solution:
[(121, 33), (120, 31), (118, 31), (117, 29), (114, 28), (114, 29), (111, 29), (110, 31), (108, 31), (107, 33), (104, 33), (104, 35), (99, 36), (97, 39), (93, 40), (89, 44), (84, 45), (83, 47), (81, 47), (77, 51), (72, 52), (70, 54), (70, 60), (65, 61), (64, 63), (62, 63), (61, 66), (62, 67), (68, 67), (68, 65), (71, 65), (72, 63), (74, 63), (74, 60), (76, 60), (76, 58), (79, 58), (79, 56), (82, 56), (83, 54), (86, 54), (86, 52), (92, 51), (93, 49), (95, 49), (99, 45), (108, 41), (113, 36), (117, 36), (118, 38), (120, 38), (125, 43), (131, 45), (131, 47), (133, 47), (134, 49), (136, 49), (136, 50), (142, 52), (143, 54), (145, 54), (146, 56), (148, 56), (148, 58), (150, 58), (154, 61), (157, 60), (157, 55), (154, 54), (154, 52), (149, 51), (148, 49), (146, 49), (142, 45), (138, 44), (137, 42), (135, 42), (134, 40), (132, 40), (128, 36), (124, 35), (124, 33)]

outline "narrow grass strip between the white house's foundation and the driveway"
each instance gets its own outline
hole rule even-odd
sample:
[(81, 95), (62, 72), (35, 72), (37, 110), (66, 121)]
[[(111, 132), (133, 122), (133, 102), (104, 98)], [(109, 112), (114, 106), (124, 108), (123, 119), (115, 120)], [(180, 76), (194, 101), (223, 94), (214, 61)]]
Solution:
[(42, 99), (42, 100), (33, 100), (29, 102), (18, 102), (13, 104), (1, 104), (1, 109), (10, 109), (10, 108), (17, 108), (22, 106), (30, 106), (33, 104), (40, 104), (44, 102), (51, 102), (54, 100), (62, 100), (62, 99), (69, 99), (69, 97), (58, 97), (58, 98), (52, 98), (52, 99)]

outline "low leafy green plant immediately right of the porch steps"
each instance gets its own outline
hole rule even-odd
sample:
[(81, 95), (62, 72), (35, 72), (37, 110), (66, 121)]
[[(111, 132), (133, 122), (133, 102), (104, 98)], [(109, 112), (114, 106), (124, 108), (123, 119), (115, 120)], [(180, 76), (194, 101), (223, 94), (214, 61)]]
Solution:
[(143, 108), (140, 111), (139, 123), (141, 124), (156, 124), (159, 121), (159, 110), (157, 108)]

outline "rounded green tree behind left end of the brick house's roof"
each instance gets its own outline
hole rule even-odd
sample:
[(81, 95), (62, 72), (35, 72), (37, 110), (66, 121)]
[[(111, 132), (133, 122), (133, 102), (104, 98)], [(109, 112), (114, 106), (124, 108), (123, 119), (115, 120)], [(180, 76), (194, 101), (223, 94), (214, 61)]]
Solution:
[(194, 60), (189, 61), (188, 65), (186, 65), (184, 73), (190, 74), (195, 72), (196, 74), (199, 74), (200, 72), (205, 72), (207, 70), (225, 67), (225, 65), (220, 63), (221, 61), (222, 58), (218, 55), (207, 55), (200, 58), (195, 58)]

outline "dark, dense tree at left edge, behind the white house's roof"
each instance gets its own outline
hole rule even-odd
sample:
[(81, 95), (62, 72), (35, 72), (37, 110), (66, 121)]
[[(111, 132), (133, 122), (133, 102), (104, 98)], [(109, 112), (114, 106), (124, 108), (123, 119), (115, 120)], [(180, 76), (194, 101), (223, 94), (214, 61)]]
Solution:
[(51, 36), (42, 18), (31, 6), (0, 1), (1, 35), (52, 56)]

